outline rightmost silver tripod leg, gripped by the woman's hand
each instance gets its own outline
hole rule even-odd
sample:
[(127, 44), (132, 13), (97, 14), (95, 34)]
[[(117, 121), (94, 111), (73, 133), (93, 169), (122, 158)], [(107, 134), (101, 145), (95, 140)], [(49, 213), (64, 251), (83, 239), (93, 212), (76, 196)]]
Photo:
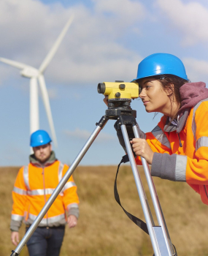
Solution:
[[(133, 131), (134, 131), (135, 138), (139, 138), (139, 129), (138, 129), (137, 125), (133, 126)], [(173, 246), (172, 246), (172, 241), (171, 241), (171, 238), (169, 236), (169, 231), (167, 229), (165, 219), (163, 217), (163, 211), (161, 209), (161, 204), (160, 204), (160, 201), (158, 199), (158, 194), (157, 194), (156, 189), (155, 189), (155, 184), (153, 182), (152, 176), (150, 175), (149, 165), (147, 165), (147, 161), (143, 157), (141, 157), (141, 159), (142, 159), (142, 165), (143, 165), (144, 170), (145, 170), (145, 176), (147, 178), (147, 184), (148, 184), (148, 187), (150, 189), (150, 195), (151, 195), (152, 200), (153, 200), (153, 206), (155, 208), (155, 214), (156, 214), (156, 217), (158, 219), (158, 224), (162, 227), (163, 236), (164, 236), (164, 239), (166, 241), (167, 249), (169, 249), (169, 254), (174, 255), (174, 249), (173, 249)]]

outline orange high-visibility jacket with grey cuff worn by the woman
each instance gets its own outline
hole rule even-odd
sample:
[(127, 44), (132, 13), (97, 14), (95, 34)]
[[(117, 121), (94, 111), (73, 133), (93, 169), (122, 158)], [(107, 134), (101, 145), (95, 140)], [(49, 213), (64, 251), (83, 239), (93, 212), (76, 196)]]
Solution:
[[(152, 132), (144, 134), (155, 152), (151, 175), (186, 181), (208, 205), (208, 99), (201, 100), (189, 111), (178, 134), (174, 126), (169, 127), (169, 132), (164, 131), (169, 123), (165, 117)], [(139, 157), (136, 163), (142, 164)]]

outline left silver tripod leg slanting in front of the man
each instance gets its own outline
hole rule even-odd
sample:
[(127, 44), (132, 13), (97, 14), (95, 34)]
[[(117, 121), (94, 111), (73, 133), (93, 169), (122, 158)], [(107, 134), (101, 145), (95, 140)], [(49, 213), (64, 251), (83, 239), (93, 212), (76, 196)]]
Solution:
[(20, 254), (20, 251), (23, 249), (23, 246), (26, 245), (29, 238), (31, 238), (32, 234), (34, 233), (34, 230), (36, 230), (36, 227), (39, 225), (39, 222), (41, 222), (42, 218), (45, 217), (45, 214), (47, 213), (50, 206), (53, 204), (56, 197), (58, 197), (59, 193), (61, 192), (61, 189), (63, 189), (66, 182), (69, 180), (70, 176), (72, 176), (72, 173), (74, 172), (77, 165), (79, 165), (82, 158), (85, 156), (86, 152), (92, 145), (93, 141), (96, 139), (96, 137), (99, 135), (99, 132), (104, 127), (104, 125), (107, 123), (108, 118), (106, 116), (103, 116), (99, 123), (97, 123), (96, 129), (94, 129), (93, 133), (90, 135), (90, 138), (88, 138), (85, 145), (82, 147), (80, 153), (77, 155), (76, 159), (74, 159), (74, 162), (72, 162), (72, 165), (69, 167), (69, 170), (67, 170), (66, 174), (61, 179), (58, 186), (53, 191), (53, 194), (49, 197), (47, 200), (47, 203), (42, 208), (36, 219), (34, 220), (31, 227), (28, 229), (25, 236), (23, 236), (23, 239), (20, 241), (20, 244), (16, 247), (15, 251), (12, 251), (11, 256), (18, 256)]

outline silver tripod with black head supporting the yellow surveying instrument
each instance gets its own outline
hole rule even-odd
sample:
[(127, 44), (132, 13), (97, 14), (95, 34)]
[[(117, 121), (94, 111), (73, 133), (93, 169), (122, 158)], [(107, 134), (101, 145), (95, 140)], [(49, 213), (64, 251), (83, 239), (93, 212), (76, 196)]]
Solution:
[(42, 211), (40, 211), (39, 215), (36, 217), (31, 227), (29, 227), (26, 235), (20, 241), (20, 244), (18, 244), (16, 249), (12, 251), (11, 256), (18, 256), (20, 254), (20, 251), (23, 249), (23, 246), (27, 243), (29, 238), (31, 238), (32, 234), (34, 233), (34, 230), (36, 230), (36, 227), (38, 227), (39, 222), (41, 222), (41, 220), (47, 213), (48, 209), (53, 204), (55, 198), (58, 197), (59, 193), (61, 192), (61, 189), (63, 189), (64, 185), (66, 184), (70, 176), (72, 176), (72, 173), (74, 172), (75, 168), (77, 167), (77, 165), (79, 165), (80, 161), (85, 156), (86, 152), (92, 145), (93, 141), (99, 135), (99, 132), (101, 131), (101, 129), (104, 128), (105, 124), (107, 124), (107, 121), (109, 119), (118, 120), (118, 125), (120, 126), (120, 129), (122, 131), (123, 139), (126, 145), (126, 151), (128, 154), (128, 158), (131, 164), (131, 169), (134, 175), (134, 180), (136, 183), (136, 189), (138, 191), (139, 199), (142, 205), (142, 210), (145, 215), (145, 221), (147, 222), (147, 229), (150, 235), (150, 240), (153, 246), (153, 251), (155, 253), (155, 256), (175, 255), (174, 249), (172, 247), (172, 242), (169, 237), (169, 232), (166, 227), (166, 222), (163, 217), (163, 212), (161, 210), (161, 205), (158, 200), (158, 195), (155, 190), (153, 178), (150, 176), (149, 166), (147, 165), (146, 160), (143, 157), (141, 157), (142, 165), (145, 170), (145, 176), (147, 178), (147, 184), (150, 189), (150, 195), (153, 200), (153, 206), (155, 208), (156, 218), (158, 220), (158, 226), (155, 226), (153, 216), (150, 211), (150, 206), (147, 201), (147, 196), (145, 194), (145, 190), (143, 188), (142, 181), (136, 167), (136, 162), (134, 159), (134, 154), (131, 150), (131, 144), (129, 142), (128, 132), (126, 127), (132, 127), (135, 138), (139, 138), (139, 127), (136, 124), (136, 119), (135, 119), (136, 110), (131, 109), (130, 103), (131, 103), (131, 99), (113, 100), (108, 103), (109, 108), (106, 110), (105, 115), (101, 117), (101, 120), (99, 121), (99, 123), (96, 123), (96, 129), (94, 129), (93, 133), (90, 135), (87, 142), (82, 147), (80, 153), (77, 155), (76, 159), (74, 159), (74, 162), (72, 162), (72, 165), (69, 167), (69, 170), (67, 170), (66, 174), (63, 176), (60, 183), (55, 188), (49, 200), (47, 200), (47, 203), (42, 208)]

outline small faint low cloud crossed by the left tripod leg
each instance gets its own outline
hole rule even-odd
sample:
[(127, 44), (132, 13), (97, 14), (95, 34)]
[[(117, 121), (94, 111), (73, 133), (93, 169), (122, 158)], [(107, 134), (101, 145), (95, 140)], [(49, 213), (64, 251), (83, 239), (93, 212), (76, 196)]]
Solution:
[[(63, 133), (69, 136), (70, 138), (78, 138), (81, 140), (88, 140), (88, 138), (92, 134), (92, 132), (88, 132), (85, 129), (81, 130), (79, 128), (76, 128), (74, 131), (64, 130)], [(101, 131), (98, 137), (96, 138), (95, 142), (106, 142), (109, 140), (115, 140), (115, 137)]]

